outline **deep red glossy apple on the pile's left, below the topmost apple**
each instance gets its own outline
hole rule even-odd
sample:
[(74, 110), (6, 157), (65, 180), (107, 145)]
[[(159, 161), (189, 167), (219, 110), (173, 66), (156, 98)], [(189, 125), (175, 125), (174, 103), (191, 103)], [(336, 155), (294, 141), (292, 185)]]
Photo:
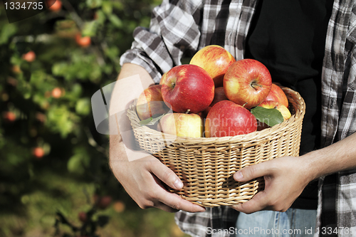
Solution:
[(174, 112), (195, 114), (213, 101), (214, 81), (197, 65), (177, 65), (163, 78), (162, 98)]

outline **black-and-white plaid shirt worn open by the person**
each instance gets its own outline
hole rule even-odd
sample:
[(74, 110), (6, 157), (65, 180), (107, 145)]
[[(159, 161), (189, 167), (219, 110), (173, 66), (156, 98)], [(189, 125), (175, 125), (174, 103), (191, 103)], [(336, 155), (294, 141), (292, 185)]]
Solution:
[[(158, 83), (163, 73), (181, 64), (182, 58), (207, 45), (224, 46), (236, 60), (242, 59), (256, 1), (163, 0), (152, 11), (150, 28), (135, 29), (132, 48), (120, 62), (141, 65)], [(356, 130), (355, 29), (356, 3), (335, 0), (323, 61), (323, 146)], [(320, 236), (328, 233), (323, 228), (335, 231), (336, 226), (338, 236), (356, 236), (356, 170), (322, 177), (319, 184)], [(234, 209), (220, 206), (198, 214), (179, 211), (175, 219), (192, 236), (229, 236), (238, 215)]]

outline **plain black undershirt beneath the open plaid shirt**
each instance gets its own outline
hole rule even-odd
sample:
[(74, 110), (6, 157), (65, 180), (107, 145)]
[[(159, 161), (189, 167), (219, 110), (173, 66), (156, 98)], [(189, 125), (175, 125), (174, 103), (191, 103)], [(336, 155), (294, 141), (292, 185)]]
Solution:
[[(320, 146), (321, 70), (333, 0), (268, 0), (257, 7), (246, 38), (245, 58), (266, 65), (273, 82), (298, 91), (305, 100), (300, 155)], [(293, 208), (316, 209), (313, 181)]]

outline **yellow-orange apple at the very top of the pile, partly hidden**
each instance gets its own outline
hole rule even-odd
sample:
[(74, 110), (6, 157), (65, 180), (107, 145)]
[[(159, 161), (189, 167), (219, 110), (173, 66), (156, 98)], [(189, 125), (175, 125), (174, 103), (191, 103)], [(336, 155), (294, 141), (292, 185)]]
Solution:
[(206, 70), (214, 80), (215, 87), (223, 86), (227, 68), (234, 63), (235, 58), (221, 46), (205, 46), (194, 54), (189, 64), (199, 65)]

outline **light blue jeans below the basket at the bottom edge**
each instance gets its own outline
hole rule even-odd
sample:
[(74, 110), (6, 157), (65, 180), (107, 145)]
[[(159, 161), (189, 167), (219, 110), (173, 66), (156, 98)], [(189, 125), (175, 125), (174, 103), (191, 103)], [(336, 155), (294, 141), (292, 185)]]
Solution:
[(236, 221), (236, 235), (268, 237), (310, 237), (316, 224), (316, 210), (288, 209), (286, 212), (258, 211), (240, 213)]

